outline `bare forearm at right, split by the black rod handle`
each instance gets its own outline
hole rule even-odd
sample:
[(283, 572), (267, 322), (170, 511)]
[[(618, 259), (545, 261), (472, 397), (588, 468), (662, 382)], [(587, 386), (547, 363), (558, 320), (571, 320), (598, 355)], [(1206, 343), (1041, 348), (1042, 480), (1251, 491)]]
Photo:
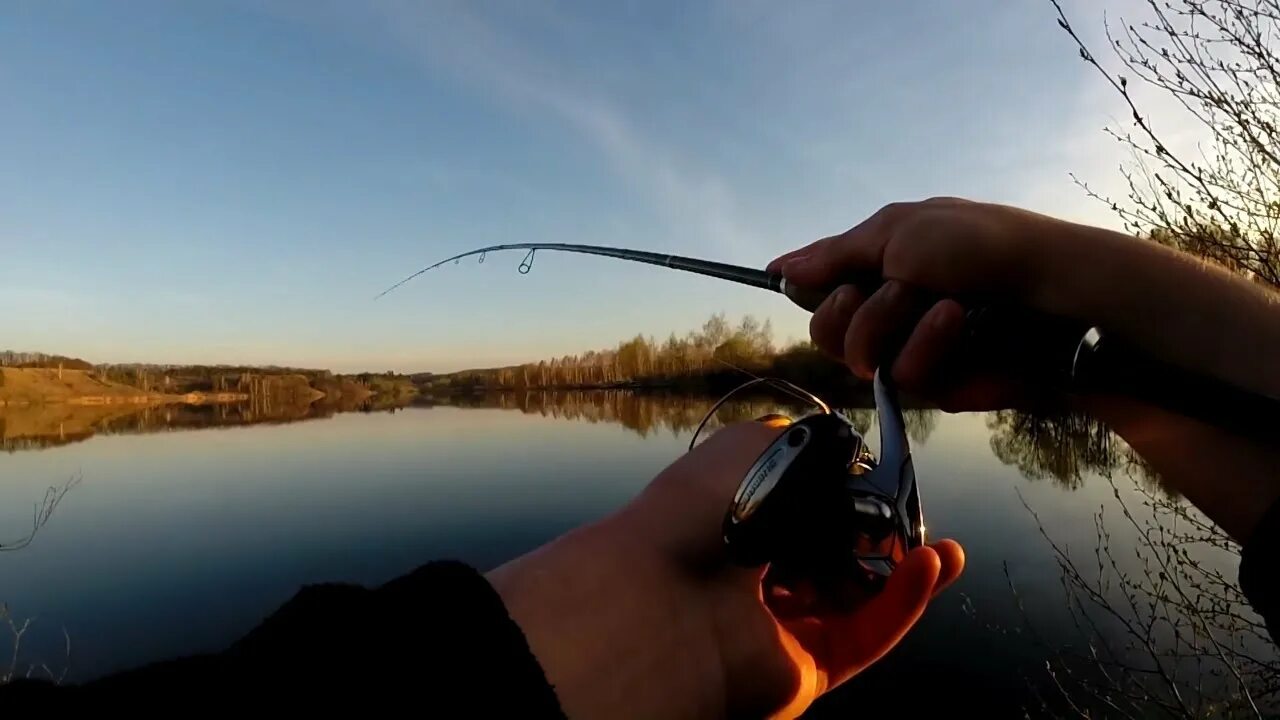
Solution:
[[(1222, 268), (1129, 236), (1059, 224), (1032, 304), (1097, 323), (1155, 357), (1280, 396), (1280, 296)], [(1068, 237), (1069, 236), (1069, 237)], [(1048, 268), (1078, 268), (1075, 273)], [(1280, 498), (1280, 452), (1114, 397), (1083, 400), (1161, 478), (1244, 542)], [(1189, 457), (1213, 450), (1213, 462)]]

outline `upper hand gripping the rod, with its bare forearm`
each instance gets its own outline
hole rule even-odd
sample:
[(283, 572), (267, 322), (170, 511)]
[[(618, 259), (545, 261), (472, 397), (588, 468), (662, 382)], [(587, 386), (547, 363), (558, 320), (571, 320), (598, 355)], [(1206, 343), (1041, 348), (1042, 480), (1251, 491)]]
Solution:
[[(769, 269), (799, 287), (882, 277), (884, 284), (869, 296), (852, 286), (832, 293), (814, 313), (810, 334), (865, 378), (892, 361), (901, 388), (947, 410), (1018, 406), (1039, 389), (980, 368), (951, 375), (964, 366), (956, 350), (963, 302), (972, 297), (1101, 325), (1155, 357), (1280, 395), (1275, 295), (1121, 233), (942, 197), (888, 205), (845, 233), (782, 255)], [(1242, 343), (1261, 345), (1262, 352), (1226, 351)]]

